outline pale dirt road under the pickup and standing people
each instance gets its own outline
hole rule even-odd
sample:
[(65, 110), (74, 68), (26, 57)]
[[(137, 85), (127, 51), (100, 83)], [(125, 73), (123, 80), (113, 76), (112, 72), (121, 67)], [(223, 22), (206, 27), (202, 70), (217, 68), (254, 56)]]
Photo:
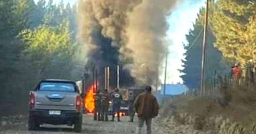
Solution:
[[(110, 117), (109, 117), (110, 118)], [(128, 122), (127, 116), (121, 117), (122, 122), (98, 122), (93, 121), (92, 116), (84, 115), (83, 117), (83, 134), (134, 134), (137, 124)], [(74, 133), (72, 127), (42, 125), (38, 131), (28, 131), (27, 122), (19, 122), (13, 126), (6, 126), (0, 134), (71, 134)], [(158, 134), (159, 132), (154, 132)]]

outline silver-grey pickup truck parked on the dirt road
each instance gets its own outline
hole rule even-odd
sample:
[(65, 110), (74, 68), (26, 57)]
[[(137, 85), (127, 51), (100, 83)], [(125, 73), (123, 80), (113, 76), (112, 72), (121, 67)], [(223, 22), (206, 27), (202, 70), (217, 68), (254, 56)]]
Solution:
[(82, 130), (82, 93), (75, 82), (43, 80), (29, 93), (28, 129), (37, 130), (42, 124), (74, 125)]

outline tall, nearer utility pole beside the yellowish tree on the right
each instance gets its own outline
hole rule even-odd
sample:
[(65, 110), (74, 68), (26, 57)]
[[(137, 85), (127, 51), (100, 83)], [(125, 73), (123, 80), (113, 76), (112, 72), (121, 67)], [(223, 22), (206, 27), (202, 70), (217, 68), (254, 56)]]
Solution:
[(205, 21), (204, 21), (204, 39), (203, 39), (203, 49), (202, 49), (202, 70), (201, 70), (201, 88), (200, 88), (201, 96), (205, 94), (205, 60), (206, 60), (208, 12), (209, 12), (209, 0), (206, 1), (206, 12), (205, 12)]

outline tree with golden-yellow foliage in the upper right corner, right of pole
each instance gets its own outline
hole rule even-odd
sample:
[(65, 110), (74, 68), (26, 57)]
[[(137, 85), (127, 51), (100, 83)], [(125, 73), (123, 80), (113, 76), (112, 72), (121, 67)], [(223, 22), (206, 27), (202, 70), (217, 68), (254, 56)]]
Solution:
[[(227, 58), (245, 67), (256, 60), (256, 1), (218, 0), (211, 2), (210, 27), (214, 44)], [(202, 19), (201, 19), (202, 20)]]

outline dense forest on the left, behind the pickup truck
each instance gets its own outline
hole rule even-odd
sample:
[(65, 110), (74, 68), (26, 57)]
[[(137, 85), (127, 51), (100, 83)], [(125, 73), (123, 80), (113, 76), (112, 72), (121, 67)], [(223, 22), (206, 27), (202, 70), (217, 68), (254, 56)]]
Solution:
[(41, 79), (80, 79), (76, 10), (63, 1), (0, 1), (0, 115), (25, 112)]

